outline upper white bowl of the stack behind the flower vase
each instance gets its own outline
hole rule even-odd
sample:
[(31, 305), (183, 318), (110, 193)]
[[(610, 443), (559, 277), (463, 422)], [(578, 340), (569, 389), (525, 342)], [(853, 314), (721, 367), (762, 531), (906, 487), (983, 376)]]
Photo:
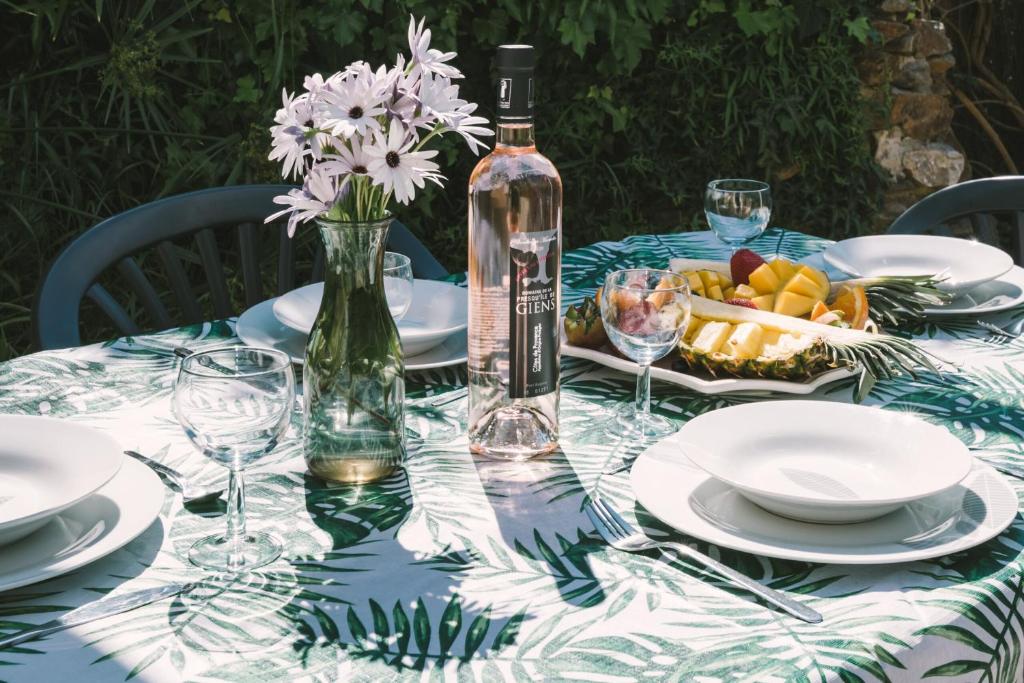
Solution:
[[(278, 298), (273, 314), (288, 327), (308, 335), (319, 311), (324, 283), (306, 285)], [(413, 302), (398, 321), (401, 348), (407, 355), (419, 355), (466, 329), (469, 294), (465, 289), (434, 280), (417, 280)]]

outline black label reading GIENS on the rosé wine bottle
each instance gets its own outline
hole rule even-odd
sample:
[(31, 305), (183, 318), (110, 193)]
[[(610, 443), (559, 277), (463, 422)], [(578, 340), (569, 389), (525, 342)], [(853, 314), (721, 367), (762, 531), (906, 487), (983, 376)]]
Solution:
[(558, 230), (509, 236), (509, 397), (558, 387)]

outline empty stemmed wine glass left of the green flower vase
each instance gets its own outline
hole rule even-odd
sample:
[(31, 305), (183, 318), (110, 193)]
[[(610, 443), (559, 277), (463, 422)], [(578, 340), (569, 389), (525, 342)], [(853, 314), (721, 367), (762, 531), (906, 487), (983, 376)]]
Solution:
[(217, 571), (254, 569), (281, 556), (281, 543), (246, 530), (243, 471), (278, 445), (295, 398), (292, 361), (281, 351), (236, 346), (193, 353), (174, 383), (174, 416), (204, 456), (228, 470), (227, 533), (198, 541), (188, 559)]

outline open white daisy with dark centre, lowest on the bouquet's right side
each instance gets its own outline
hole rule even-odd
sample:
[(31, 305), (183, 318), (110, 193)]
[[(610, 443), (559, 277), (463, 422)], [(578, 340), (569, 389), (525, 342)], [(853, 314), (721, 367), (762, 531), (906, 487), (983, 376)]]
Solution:
[(437, 173), (437, 164), (428, 161), (437, 151), (411, 152), (415, 141), (395, 119), (388, 126), (387, 136), (375, 134), (373, 144), (365, 148), (374, 183), (383, 185), (385, 195), (393, 193), (399, 204), (409, 204), (416, 196), (416, 187), (424, 186), (424, 180), (440, 185), (444, 177)]

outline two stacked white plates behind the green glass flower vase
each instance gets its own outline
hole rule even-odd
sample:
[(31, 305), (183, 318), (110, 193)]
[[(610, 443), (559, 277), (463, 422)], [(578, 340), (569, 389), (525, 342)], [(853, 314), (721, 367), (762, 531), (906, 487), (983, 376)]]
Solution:
[[(324, 283), (293, 290), (242, 313), (236, 333), (247, 344), (284, 351), (294, 362), (305, 355), (324, 296)], [(406, 370), (442, 368), (466, 361), (469, 299), (465, 289), (433, 280), (416, 280), (409, 311), (398, 321)]]

